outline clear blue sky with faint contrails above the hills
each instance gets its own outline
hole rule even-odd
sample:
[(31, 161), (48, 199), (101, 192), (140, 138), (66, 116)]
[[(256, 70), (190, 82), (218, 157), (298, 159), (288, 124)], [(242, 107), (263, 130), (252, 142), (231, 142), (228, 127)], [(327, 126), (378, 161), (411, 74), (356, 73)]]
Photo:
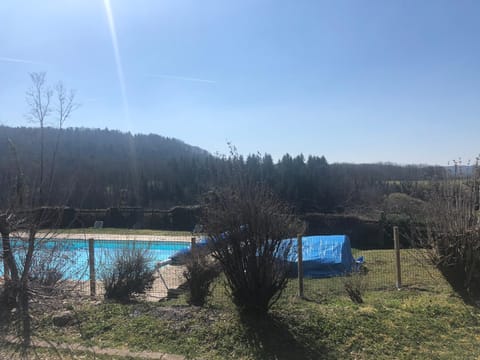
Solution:
[(476, 0), (2, 0), (0, 124), (28, 125), (33, 71), (77, 90), (69, 126), (212, 153), (227, 141), (329, 162), (480, 152)]

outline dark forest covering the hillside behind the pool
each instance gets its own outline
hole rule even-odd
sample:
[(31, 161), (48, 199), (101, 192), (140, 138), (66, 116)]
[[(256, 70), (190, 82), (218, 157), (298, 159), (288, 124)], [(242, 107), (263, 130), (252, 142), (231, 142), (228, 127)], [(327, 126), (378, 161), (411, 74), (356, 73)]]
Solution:
[[(38, 186), (40, 139), (40, 128), (0, 126), (2, 206), (19, 181)], [(236, 166), (299, 213), (368, 212), (395, 192), (421, 199), (422, 184), (445, 175), (443, 167), (330, 164), (323, 156), (214, 156), (176, 139), (106, 129), (44, 128), (43, 139), (44, 167), (53, 179), (49, 205), (76, 208), (197, 204), (209, 189), (225, 185)]]

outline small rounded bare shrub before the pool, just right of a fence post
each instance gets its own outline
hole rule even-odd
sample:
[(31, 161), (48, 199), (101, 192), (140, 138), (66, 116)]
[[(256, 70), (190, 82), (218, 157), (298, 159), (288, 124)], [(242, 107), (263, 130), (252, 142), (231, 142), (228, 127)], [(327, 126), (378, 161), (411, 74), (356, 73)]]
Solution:
[(143, 249), (128, 247), (116, 252), (112, 264), (100, 274), (105, 298), (129, 301), (135, 294), (145, 294), (155, 280), (152, 262)]

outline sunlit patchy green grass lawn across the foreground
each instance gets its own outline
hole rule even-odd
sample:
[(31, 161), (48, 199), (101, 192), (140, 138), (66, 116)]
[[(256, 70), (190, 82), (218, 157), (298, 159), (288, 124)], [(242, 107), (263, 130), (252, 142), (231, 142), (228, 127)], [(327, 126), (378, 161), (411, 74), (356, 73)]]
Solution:
[[(360, 253), (357, 251), (357, 253)], [(466, 305), (413, 250), (402, 252), (405, 287), (395, 289), (392, 251), (362, 251), (363, 304), (340, 279), (306, 280), (302, 300), (291, 281), (267, 319), (241, 319), (217, 284), (205, 308), (162, 303), (86, 303), (78, 324), (38, 334), (66, 343), (164, 351), (198, 359), (478, 359), (480, 310)]]

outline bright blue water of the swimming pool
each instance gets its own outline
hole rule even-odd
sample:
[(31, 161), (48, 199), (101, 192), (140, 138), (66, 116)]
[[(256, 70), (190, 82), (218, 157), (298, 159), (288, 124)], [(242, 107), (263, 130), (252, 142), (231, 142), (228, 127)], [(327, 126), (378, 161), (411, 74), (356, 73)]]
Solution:
[[(15, 251), (17, 261), (23, 259), (24, 247), (19, 241), (12, 244), (18, 247)], [(126, 249), (145, 251), (154, 267), (160, 261), (172, 257), (175, 253), (188, 249), (189, 242), (172, 241), (128, 241), (128, 240), (95, 240), (95, 268), (97, 273), (113, 262), (115, 255)], [(65, 277), (74, 280), (88, 280), (88, 240), (57, 239), (41, 241), (35, 252), (34, 266), (42, 267), (45, 264), (55, 264), (62, 269)], [(0, 268), (2, 275), (3, 267)]]

